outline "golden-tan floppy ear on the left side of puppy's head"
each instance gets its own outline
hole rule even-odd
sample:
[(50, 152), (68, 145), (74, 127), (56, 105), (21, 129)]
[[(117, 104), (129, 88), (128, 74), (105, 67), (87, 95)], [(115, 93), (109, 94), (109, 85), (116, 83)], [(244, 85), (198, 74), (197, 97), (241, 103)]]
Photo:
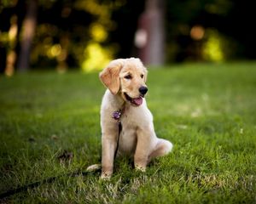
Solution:
[(125, 59), (115, 59), (100, 73), (102, 83), (112, 94), (118, 94), (120, 87), (119, 72), (121, 71)]

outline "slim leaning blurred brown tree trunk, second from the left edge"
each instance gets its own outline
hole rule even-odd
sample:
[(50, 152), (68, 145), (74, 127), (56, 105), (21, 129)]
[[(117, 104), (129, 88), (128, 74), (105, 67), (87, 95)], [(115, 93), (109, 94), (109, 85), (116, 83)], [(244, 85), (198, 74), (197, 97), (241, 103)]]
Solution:
[(18, 71), (27, 71), (29, 69), (32, 39), (37, 25), (38, 1), (28, 1), (26, 8), (26, 16), (22, 24), (20, 55), (17, 66)]

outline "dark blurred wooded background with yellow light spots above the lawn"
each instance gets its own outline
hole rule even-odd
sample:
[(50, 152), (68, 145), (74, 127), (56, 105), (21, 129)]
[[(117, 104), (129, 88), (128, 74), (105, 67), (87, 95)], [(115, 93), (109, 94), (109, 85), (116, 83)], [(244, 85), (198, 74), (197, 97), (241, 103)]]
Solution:
[(255, 20), (241, 0), (2, 0), (0, 72), (256, 59)]

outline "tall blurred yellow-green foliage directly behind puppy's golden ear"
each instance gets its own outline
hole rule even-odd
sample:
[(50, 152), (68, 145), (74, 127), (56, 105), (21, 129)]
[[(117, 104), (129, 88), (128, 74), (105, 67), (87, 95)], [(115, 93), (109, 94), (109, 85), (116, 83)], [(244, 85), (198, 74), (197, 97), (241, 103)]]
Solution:
[(84, 49), (84, 61), (82, 68), (84, 71), (102, 69), (113, 59), (114, 47), (108, 42), (108, 33), (113, 31), (114, 22), (111, 20), (113, 10), (121, 7), (124, 3), (121, 1), (102, 1), (95, 0), (78, 1), (76, 6), (95, 17), (90, 23), (90, 40)]

